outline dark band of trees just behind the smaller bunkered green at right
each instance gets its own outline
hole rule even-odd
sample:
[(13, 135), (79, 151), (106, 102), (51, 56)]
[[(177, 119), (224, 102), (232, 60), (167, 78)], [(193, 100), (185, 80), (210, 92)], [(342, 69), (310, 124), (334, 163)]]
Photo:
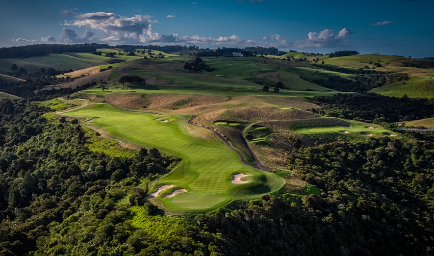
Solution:
[(320, 96), (314, 100), (322, 107), (320, 114), (343, 116), (366, 122), (398, 122), (434, 116), (434, 100), (409, 97), (388, 97), (379, 94), (340, 94)]

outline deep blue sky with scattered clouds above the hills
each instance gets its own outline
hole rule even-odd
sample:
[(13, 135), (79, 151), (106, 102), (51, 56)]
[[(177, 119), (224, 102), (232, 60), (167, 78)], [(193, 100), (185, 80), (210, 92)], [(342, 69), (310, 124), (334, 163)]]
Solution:
[(0, 47), (95, 42), (434, 56), (434, 0), (0, 0), (0, 6)]

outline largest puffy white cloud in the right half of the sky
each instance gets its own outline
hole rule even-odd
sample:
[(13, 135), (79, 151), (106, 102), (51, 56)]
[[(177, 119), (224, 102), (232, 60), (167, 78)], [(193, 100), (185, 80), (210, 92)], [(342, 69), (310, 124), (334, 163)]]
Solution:
[(297, 48), (334, 48), (346, 46), (345, 38), (353, 32), (344, 28), (335, 35), (333, 30), (325, 29), (323, 31), (309, 32), (308, 39), (295, 41), (294, 47)]

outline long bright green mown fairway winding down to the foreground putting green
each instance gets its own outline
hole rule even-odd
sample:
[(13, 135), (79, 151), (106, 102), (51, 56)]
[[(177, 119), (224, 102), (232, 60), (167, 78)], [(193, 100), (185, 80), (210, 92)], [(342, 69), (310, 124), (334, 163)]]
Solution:
[[(83, 123), (109, 132), (114, 138), (146, 147), (156, 147), (182, 162), (164, 175), (152, 188), (173, 185), (172, 189), (187, 192), (170, 198), (162, 198), (171, 190), (162, 191), (157, 198), (165, 206), (177, 211), (205, 211), (216, 209), (234, 199), (248, 198), (275, 191), (284, 181), (277, 175), (257, 170), (240, 161), (240, 157), (223, 141), (211, 141), (194, 137), (187, 132), (190, 116), (157, 115), (126, 111), (104, 103), (88, 103), (84, 107), (63, 113), (68, 116), (93, 119)], [(189, 129), (201, 127), (189, 125)], [(233, 184), (232, 175), (248, 175), (248, 183)]]

